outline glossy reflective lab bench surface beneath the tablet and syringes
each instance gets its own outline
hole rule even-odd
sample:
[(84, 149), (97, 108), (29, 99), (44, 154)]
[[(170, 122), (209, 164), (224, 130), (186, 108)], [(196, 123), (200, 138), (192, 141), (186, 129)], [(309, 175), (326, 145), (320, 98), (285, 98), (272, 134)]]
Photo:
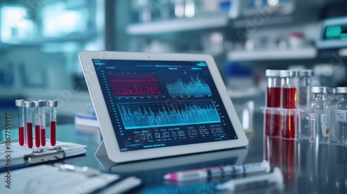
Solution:
[(124, 177), (134, 175), (141, 178), (142, 186), (130, 193), (217, 193), (215, 186), (226, 182), (226, 177), (196, 182), (168, 182), (162, 177), (178, 170), (247, 164), (263, 159), (269, 161), (271, 169), (278, 166), (282, 170), (284, 184), (246, 189), (237, 193), (347, 193), (347, 146), (265, 138), (262, 115), (256, 115), (254, 122), (254, 133), (248, 134), (249, 145), (246, 148), (126, 164), (114, 164), (107, 157), (94, 156), (101, 143), (98, 129), (58, 125), (57, 140), (87, 145), (86, 155), (67, 158), (62, 161), (65, 164), (89, 166)]

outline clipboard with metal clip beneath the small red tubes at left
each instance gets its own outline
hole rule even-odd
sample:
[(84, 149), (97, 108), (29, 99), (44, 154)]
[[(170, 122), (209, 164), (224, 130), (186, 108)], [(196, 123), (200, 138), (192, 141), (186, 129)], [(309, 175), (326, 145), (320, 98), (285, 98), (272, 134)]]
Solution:
[(19, 145), (18, 140), (12, 140), (10, 143), (0, 141), (0, 172), (8, 168), (84, 155), (87, 152), (87, 145), (57, 141), (55, 146), (51, 146), (49, 142), (49, 139), (46, 139), (45, 146), (28, 148), (26, 145)]

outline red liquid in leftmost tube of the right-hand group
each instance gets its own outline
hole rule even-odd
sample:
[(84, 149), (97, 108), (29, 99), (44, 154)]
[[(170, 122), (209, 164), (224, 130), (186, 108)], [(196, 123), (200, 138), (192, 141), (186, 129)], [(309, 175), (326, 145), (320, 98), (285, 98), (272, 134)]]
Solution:
[[(266, 107), (280, 107), (281, 88), (268, 87), (266, 89)], [(265, 114), (265, 135), (279, 136), (280, 135), (280, 113), (275, 109), (266, 110)]]

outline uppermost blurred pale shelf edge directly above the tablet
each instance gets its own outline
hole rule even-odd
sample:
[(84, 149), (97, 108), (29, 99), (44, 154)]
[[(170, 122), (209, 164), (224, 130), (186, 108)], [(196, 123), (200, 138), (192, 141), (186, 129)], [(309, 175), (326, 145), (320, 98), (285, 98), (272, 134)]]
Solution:
[(175, 33), (186, 30), (202, 30), (228, 26), (228, 15), (209, 15), (203, 17), (180, 18), (166, 21), (130, 24), (126, 32), (130, 35), (150, 35), (159, 33)]

